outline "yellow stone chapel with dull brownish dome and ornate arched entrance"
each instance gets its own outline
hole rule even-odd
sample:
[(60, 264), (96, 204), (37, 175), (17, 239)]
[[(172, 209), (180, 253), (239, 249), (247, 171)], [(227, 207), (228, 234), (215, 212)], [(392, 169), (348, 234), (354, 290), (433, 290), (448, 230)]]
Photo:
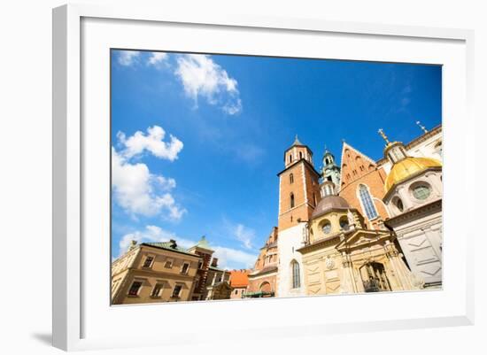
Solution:
[[(306, 295), (416, 289), (395, 236), (386, 228), (367, 229), (364, 218), (335, 184), (325, 181), (324, 196), (304, 235), (302, 254)], [(293, 274), (293, 282), (299, 273)]]

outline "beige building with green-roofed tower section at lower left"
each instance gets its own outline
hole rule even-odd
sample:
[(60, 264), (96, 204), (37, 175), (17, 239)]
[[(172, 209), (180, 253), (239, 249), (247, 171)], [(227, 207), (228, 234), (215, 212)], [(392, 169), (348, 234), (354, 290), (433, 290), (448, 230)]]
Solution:
[(112, 304), (228, 299), (230, 273), (218, 267), (218, 259), (211, 259), (212, 254), (205, 237), (189, 250), (174, 240), (134, 241), (112, 262)]

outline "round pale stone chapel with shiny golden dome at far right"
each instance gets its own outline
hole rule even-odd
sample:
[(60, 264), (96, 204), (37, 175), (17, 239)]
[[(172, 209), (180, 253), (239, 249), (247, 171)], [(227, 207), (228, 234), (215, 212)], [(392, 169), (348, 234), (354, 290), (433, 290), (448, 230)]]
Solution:
[(383, 197), (391, 214), (386, 224), (398, 236), (414, 275), (425, 287), (437, 287), (442, 284), (441, 163), (409, 157), (402, 143), (388, 142), (385, 155), (391, 164)]

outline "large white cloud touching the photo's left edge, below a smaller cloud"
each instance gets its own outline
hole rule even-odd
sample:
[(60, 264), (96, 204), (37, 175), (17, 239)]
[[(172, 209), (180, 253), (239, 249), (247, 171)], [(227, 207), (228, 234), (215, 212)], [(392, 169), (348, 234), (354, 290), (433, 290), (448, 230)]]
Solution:
[(181, 220), (186, 210), (169, 193), (175, 186), (174, 179), (151, 174), (145, 164), (132, 164), (112, 148), (113, 197), (126, 212)]

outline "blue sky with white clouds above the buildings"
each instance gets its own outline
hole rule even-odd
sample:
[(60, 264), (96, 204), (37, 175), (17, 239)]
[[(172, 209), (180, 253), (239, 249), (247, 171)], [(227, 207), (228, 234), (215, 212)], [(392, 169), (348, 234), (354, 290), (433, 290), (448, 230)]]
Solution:
[(112, 50), (112, 255), (130, 240), (253, 264), (277, 223), (282, 154), (298, 135), (321, 166), (342, 139), (383, 157), (441, 122), (441, 67)]

